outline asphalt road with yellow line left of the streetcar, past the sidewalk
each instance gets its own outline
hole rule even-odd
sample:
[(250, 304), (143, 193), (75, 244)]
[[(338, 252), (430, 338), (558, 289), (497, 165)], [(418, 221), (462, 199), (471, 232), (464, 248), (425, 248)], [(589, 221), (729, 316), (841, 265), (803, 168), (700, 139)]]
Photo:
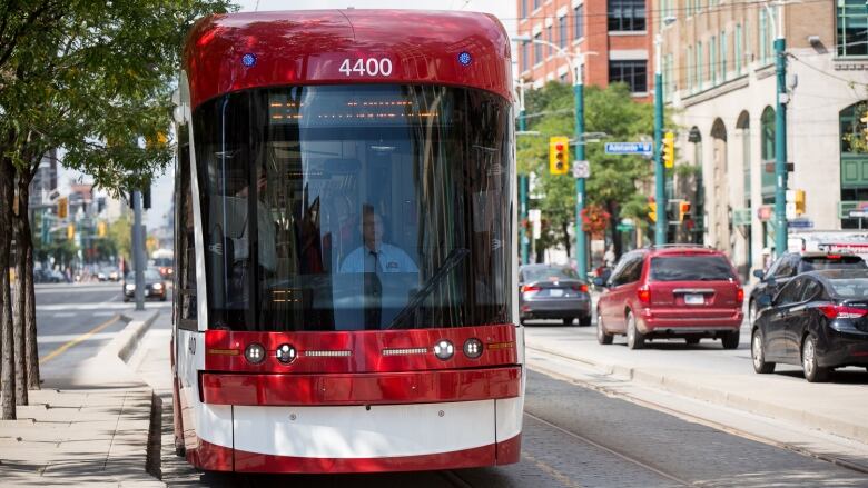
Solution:
[[(82, 359), (96, 355), (127, 320), (119, 282), (37, 285), (37, 341), (46, 387), (62, 387)], [(171, 301), (148, 301), (166, 308)]]

